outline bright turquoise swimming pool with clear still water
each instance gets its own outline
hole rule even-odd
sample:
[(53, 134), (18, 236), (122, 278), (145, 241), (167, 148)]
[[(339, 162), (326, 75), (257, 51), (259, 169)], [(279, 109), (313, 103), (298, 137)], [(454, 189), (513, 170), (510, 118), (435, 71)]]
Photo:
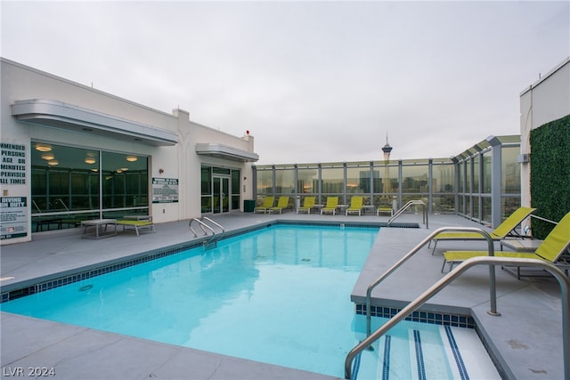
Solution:
[(350, 291), (377, 234), (275, 225), (2, 310), (343, 376), (346, 352), (363, 331)]

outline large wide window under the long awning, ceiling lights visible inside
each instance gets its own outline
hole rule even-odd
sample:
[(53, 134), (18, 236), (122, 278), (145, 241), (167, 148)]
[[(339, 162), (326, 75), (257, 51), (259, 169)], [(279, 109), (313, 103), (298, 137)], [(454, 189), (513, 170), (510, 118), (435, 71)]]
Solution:
[(149, 213), (145, 157), (38, 142), (32, 142), (31, 156), (35, 231)]

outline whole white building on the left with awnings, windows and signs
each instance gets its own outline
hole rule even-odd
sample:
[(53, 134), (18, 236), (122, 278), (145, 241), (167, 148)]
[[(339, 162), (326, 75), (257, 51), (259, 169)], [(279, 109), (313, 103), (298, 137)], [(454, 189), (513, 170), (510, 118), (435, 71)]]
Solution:
[(82, 220), (242, 209), (254, 138), (1, 60), (2, 244)]

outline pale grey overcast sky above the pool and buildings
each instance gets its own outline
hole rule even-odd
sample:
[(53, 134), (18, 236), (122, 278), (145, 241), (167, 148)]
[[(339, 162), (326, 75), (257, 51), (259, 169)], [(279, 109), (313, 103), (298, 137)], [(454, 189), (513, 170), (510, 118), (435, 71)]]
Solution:
[(1, 55), (255, 137), (257, 165), (448, 158), (520, 133), (569, 1), (0, 0)]

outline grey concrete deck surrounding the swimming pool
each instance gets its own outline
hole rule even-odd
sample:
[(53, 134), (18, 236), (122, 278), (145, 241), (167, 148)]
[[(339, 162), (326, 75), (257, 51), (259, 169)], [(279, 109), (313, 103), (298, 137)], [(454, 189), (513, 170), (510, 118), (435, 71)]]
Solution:
[[(212, 216), (228, 231), (250, 228), (276, 219), (298, 221), (386, 222), (371, 215), (306, 215), (232, 213)], [(404, 214), (398, 222), (419, 223), (419, 229), (381, 229), (361, 276), (353, 299), (362, 299), (366, 287), (393, 263), (408, 253), (429, 233), (443, 226), (480, 227), (457, 215), (429, 215), (429, 229), (420, 214)], [(110, 239), (81, 239), (80, 229), (56, 230), (34, 235), (28, 243), (1, 247), (0, 285), (2, 293), (28, 287), (102, 263), (119, 263), (126, 257), (182, 245), (191, 240), (188, 221), (156, 225), (156, 233), (132, 231)], [(498, 246), (498, 245), (497, 245)], [(444, 249), (485, 248), (485, 243), (447, 242), (438, 244), (435, 255), (427, 247), (403, 265), (372, 294), (374, 303), (402, 305), (410, 302), (444, 274)], [(517, 280), (497, 269), (497, 308), (489, 309), (488, 269), (472, 268), (446, 287), (426, 306), (437, 310), (465, 311), (476, 323), (496, 354), (502, 376), (509, 379), (562, 379), (562, 311), (558, 282), (552, 278)], [(57, 275), (56, 275), (57, 274)], [(13, 279), (11, 279), (13, 278)], [(38, 280), (40, 279), (40, 280)], [(348, 301), (348, 300), (347, 300)], [(55, 368), (58, 379), (326, 379), (311, 372), (258, 363), (250, 360), (200, 352), (144, 339), (105, 333), (42, 319), (1, 313), (1, 365), (3, 377), (17, 376), (22, 368)], [(347, 327), (349, 328), (349, 327)], [(339, 363), (344, 366), (344, 363)], [(12, 371), (12, 374), (11, 374)]]

